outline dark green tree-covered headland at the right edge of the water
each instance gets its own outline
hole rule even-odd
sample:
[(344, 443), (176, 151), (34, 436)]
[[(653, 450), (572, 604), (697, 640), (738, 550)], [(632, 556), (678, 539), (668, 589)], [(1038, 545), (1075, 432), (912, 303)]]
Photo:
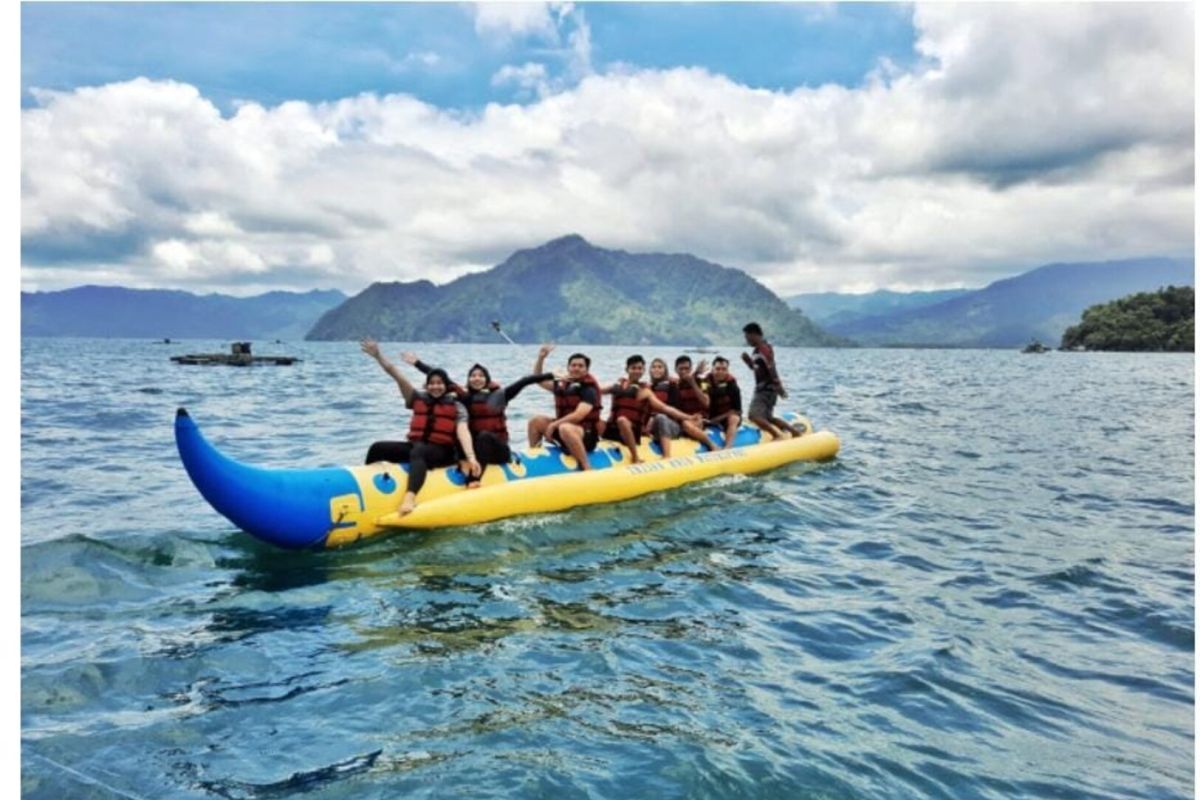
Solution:
[(1092, 306), (1062, 335), (1062, 347), (1085, 350), (1195, 350), (1195, 290), (1166, 287)]

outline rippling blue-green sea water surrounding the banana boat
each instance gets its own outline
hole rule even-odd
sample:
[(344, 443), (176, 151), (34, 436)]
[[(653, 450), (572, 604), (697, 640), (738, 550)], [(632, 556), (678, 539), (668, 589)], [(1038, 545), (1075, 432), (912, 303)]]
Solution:
[(276, 468), (407, 413), (352, 342), (169, 361), (227, 348), (22, 343), (25, 798), (1193, 795), (1190, 355), (779, 348), (833, 462), (295, 553), (200, 498), (175, 409)]

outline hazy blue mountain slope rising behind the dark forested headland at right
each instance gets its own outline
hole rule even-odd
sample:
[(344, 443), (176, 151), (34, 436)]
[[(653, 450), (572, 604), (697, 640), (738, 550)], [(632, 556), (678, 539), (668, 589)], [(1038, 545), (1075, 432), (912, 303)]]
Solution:
[(1193, 285), (1193, 259), (1048, 264), (983, 289), (847, 324), (833, 333), (868, 345), (1019, 347), (1057, 342), (1088, 306), (1165, 285)]

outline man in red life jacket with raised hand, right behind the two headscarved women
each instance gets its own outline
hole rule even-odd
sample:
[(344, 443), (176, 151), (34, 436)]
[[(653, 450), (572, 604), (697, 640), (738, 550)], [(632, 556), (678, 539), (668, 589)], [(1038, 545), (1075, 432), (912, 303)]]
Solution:
[[(542, 374), (546, 356), (553, 344), (542, 344), (538, 350), (533, 372)], [(600, 384), (588, 369), (592, 359), (582, 353), (572, 353), (566, 360), (566, 377), (542, 380), (538, 385), (554, 392), (554, 417), (535, 416), (529, 420), (529, 446), (536, 447), (542, 438), (566, 449), (580, 469), (589, 470), (588, 453), (595, 450), (600, 439)]]

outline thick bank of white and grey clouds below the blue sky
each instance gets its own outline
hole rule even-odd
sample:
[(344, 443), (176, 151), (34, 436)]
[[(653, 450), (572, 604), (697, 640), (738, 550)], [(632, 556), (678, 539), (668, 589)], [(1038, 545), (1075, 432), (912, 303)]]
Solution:
[(536, 102), (476, 114), (361, 95), (222, 118), (150, 80), (38, 92), (22, 112), (23, 283), (78, 283), (91, 263), (131, 285), (356, 290), (570, 231), (785, 294), (1190, 252), (1192, 14), (922, 6), (922, 62), (859, 89), (628, 66), (565, 89), (526, 64), (493, 80)]

